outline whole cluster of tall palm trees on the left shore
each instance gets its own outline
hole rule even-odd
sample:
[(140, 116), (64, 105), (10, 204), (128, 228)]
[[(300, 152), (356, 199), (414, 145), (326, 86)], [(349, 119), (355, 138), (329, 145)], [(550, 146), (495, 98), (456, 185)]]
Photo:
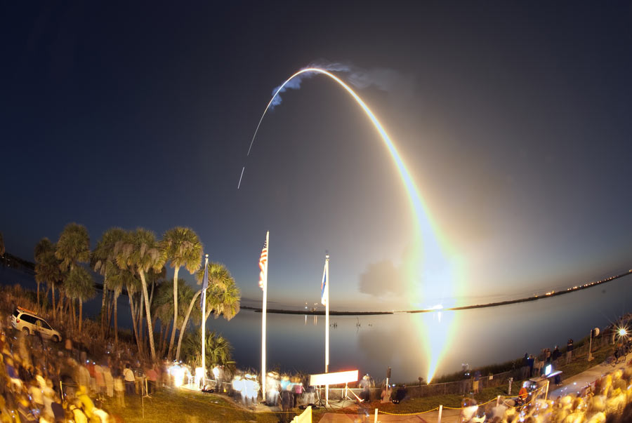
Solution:
[[(4, 249), (4, 243), (1, 244)], [(117, 300), (125, 290), (140, 356), (149, 356), (154, 362), (158, 358), (179, 360), (187, 324), (202, 319), (198, 299), (202, 289), (192, 289), (178, 274), (184, 268), (201, 284), (202, 255), (199, 236), (186, 227), (169, 229), (162, 239), (143, 228), (126, 231), (113, 227), (103, 233), (91, 250), (86, 227), (70, 223), (57, 242), (43, 238), (34, 248), (37, 304), (44, 307), (40, 299), (40, 285), (44, 283), (47, 288), (44, 297), (48, 299), (49, 293), (52, 297), (53, 318), (62, 319), (81, 333), (83, 304), (97, 294), (91, 272), (82, 265), (86, 264), (103, 276), (101, 335), (104, 338), (109, 335), (113, 323), (114, 343), (118, 344)], [(173, 267), (173, 286), (166, 281), (167, 264)], [(240, 300), (241, 293), (230, 271), (221, 263), (209, 262), (204, 318), (213, 313), (230, 320), (239, 312)], [(158, 321), (160, 330), (156, 332)], [(158, 337), (157, 342), (154, 337)], [(225, 349), (216, 354), (226, 356), (230, 350), (221, 337), (213, 337), (209, 342), (221, 344)]]

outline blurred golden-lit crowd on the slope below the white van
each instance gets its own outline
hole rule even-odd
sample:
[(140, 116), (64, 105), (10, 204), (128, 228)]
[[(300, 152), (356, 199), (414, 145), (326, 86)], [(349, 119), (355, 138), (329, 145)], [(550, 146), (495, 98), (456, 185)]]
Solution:
[(11, 316), (0, 318), (0, 422), (110, 422), (105, 400), (125, 407), (126, 396), (169, 381), (164, 366), (143, 366), (120, 350), (94, 358), (77, 344), (26, 335)]

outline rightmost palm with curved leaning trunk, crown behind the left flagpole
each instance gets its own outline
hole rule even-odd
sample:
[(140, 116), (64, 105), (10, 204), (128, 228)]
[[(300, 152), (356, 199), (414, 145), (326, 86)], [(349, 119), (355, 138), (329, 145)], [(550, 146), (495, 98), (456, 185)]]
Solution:
[[(198, 283), (202, 283), (204, 279), (204, 269), (199, 269), (195, 274)], [(226, 320), (230, 321), (237, 313), (239, 313), (239, 301), (241, 300), (241, 293), (239, 288), (235, 285), (235, 278), (232, 277), (230, 271), (224, 264), (211, 262), (209, 263), (209, 287), (206, 288), (206, 316), (208, 318), (211, 312), (215, 313), (215, 317), (223, 316)], [(180, 328), (180, 336), (178, 337), (178, 347), (176, 348), (176, 360), (180, 359), (180, 347), (182, 344), (183, 334), (189, 321), (191, 311), (197, 304), (197, 297), (202, 293), (202, 290), (197, 291), (193, 296), (187, 314), (185, 315), (182, 327)], [(199, 314), (199, 305), (196, 308)], [(201, 316), (202, 317), (202, 316)]]

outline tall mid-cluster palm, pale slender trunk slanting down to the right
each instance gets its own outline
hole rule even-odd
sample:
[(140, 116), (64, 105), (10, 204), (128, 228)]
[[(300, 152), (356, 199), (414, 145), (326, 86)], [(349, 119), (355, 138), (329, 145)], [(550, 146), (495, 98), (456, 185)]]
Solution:
[(140, 276), (140, 284), (143, 288), (143, 299), (145, 300), (145, 316), (147, 316), (147, 332), (150, 341), (150, 352), (152, 361), (156, 362), (156, 349), (154, 347), (154, 330), (152, 328), (152, 316), (147, 293), (147, 280), (145, 274), (150, 269), (159, 271), (164, 266), (164, 254), (159, 248), (156, 236), (152, 231), (138, 228), (126, 237), (124, 245), (119, 248), (117, 263), (121, 269), (133, 269)]

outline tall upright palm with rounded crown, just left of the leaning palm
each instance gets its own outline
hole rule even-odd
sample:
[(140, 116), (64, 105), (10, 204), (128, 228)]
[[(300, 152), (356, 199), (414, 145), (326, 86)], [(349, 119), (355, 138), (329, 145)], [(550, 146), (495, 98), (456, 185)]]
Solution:
[(171, 358), (173, 342), (176, 340), (176, 322), (178, 321), (178, 271), (186, 267), (190, 274), (202, 265), (202, 243), (193, 229), (175, 227), (162, 236), (161, 247), (173, 267), (173, 328), (167, 357)]

